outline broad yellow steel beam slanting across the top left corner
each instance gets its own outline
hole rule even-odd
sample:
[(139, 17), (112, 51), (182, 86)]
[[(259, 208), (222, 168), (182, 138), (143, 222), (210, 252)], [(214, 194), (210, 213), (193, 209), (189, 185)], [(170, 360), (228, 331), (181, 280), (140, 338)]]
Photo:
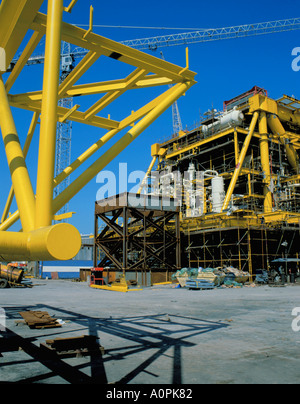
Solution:
[(0, 47), (9, 67), (44, 0), (2, 0), (0, 5)]

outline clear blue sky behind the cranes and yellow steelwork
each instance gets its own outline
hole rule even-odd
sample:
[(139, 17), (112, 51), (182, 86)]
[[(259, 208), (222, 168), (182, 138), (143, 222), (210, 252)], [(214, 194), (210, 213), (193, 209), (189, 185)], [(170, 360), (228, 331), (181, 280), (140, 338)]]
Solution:
[[(46, 2), (45, 2), (46, 3)], [(66, 5), (68, 1), (65, 2)], [(90, 3), (79, 0), (72, 14), (64, 14), (67, 22), (74, 24), (88, 24), (89, 5), (94, 7), (95, 25), (112, 26), (139, 26), (139, 27), (177, 27), (177, 28), (219, 28), (248, 23), (266, 22), (286, 18), (299, 17), (296, 0), (281, 1), (157, 1), (142, 3), (140, 1), (128, 2), (102, 2), (92, 0)], [(44, 10), (45, 11), (45, 7)], [(102, 36), (116, 41), (145, 38), (169, 33), (183, 32), (182, 30), (167, 29), (125, 29), (125, 28), (94, 28)], [(190, 69), (197, 73), (197, 84), (192, 87), (185, 97), (178, 101), (181, 120), (184, 127), (191, 128), (203, 114), (212, 106), (222, 109), (223, 101), (243, 93), (254, 85), (265, 88), (271, 98), (279, 98), (283, 94), (294, 95), (300, 98), (300, 72), (291, 68), (292, 50), (300, 47), (300, 32), (291, 31), (264, 36), (252, 36), (234, 40), (223, 40), (189, 45)], [(152, 52), (160, 57), (163, 51), (167, 61), (185, 66), (185, 47), (175, 46), (158, 49)], [(43, 49), (41, 49), (41, 53)], [(124, 68), (123, 64), (113, 65), (105, 61), (92, 68), (82, 82), (102, 81), (123, 78), (131, 69)], [(11, 93), (19, 93), (41, 89), (42, 66), (27, 67), (20, 79), (12, 88)], [(103, 111), (104, 115), (112, 115), (112, 119), (121, 119), (127, 116), (131, 109), (139, 103), (146, 102), (157, 94), (157, 89), (147, 94), (132, 92), (127, 98), (120, 98), (116, 105)], [(159, 90), (162, 92), (162, 89)], [(150, 97), (150, 98), (149, 98)], [(84, 110), (85, 101), (77, 101)], [(128, 111), (129, 110), (129, 111)], [(13, 110), (17, 129), (24, 142), (31, 114)], [(73, 126), (72, 161), (88, 146), (93, 144), (100, 135), (99, 129), (83, 125)], [(166, 111), (154, 124), (152, 124), (140, 137), (122, 152), (106, 170), (118, 173), (119, 163), (128, 164), (128, 172), (134, 170), (146, 171), (151, 161), (150, 150), (153, 143), (170, 137), (172, 134), (171, 108)], [(111, 145), (112, 143), (110, 143)], [(35, 141), (28, 155), (28, 168), (35, 186), (36, 156), (38, 150), (38, 131)], [(107, 150), (104, 148), (103, 150)], [(102, 154), (102, 151), (101, 153)], [(3, 147), (0, 148), (1, 165), (1, 198), (0, 209), (6, 200), (10, 188), (6, 157)], [(95, 158), (99, 157), (99, 154)], [(94, 161), (95, 158), (92, 160)], [(87, 166), (84, 166), (86, 168)], [(78, 171), (80, 173), (82, 171)], [(74, 175), (74, 178), (77, 177)], [(71, 177), (73, 179), (73, 177)], [(69, 209), (76, 212), (70, 220), (78, 230), (83, 233), (93, 232), (94, 202), (100, 184), (92, 180), (69, 203)], [(129, 188), (132, 185), (129, 185)], [(122, 189), (121, 189), (122, 190)], [(117, 192), (119, 190), (117, 189)], [(15, 205), (12, 210), (14, 210)], [(18, 226), (16, 226), (18, 229)]]

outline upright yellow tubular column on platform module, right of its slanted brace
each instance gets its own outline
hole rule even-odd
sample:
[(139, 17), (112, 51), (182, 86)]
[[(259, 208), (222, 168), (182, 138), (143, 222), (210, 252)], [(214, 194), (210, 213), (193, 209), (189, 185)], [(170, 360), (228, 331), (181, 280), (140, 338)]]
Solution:
[(273, 198), (270, 190), (271, 184), (271, 170), (270, 170), (270, 155), (269, 155), (269, 139), (268, 139), (268, 124), (267, 114), (264, 111), (259, 115), (259, 133), (260, 133), (260, 159), (261, 166), (264, 172), (264, 212), (272, 212)]

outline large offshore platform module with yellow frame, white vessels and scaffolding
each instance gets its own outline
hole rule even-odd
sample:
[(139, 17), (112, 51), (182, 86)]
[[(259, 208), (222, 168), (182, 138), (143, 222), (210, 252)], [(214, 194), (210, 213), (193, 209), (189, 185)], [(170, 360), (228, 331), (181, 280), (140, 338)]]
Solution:
[[(298, 258), (300, 101), (254, 87), (152, 146), (141, 192), (178, 198), (186, 265), (250, 273)], [(149, 170), (148, 170), (149, 172)]]

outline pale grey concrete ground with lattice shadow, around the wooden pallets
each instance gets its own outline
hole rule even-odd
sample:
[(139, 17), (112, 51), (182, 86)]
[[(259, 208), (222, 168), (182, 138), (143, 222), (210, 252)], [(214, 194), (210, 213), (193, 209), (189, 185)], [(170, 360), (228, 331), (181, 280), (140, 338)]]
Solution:
[[(299, 383), (299, 285), (214, 290), (158, 285), (128, 293), (63, 280), (33, 280), (33, 285), (0, 290), (1, 383)], [(16, 322), (26, 310), (47, 311), (64, 324), (30, 329)], [(98, 336), (105, 354), (41, 355), (46, 339), (81, 335)]]

